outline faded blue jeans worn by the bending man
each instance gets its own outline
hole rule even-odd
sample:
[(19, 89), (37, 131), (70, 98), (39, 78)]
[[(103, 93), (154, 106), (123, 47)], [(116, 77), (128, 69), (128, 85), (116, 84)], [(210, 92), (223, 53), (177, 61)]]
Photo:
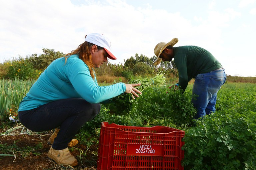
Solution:
[(215, 113), (217, 93), (225, 83), (225, 70), (214, 70), (209, 73), (198, 74), (192, 90), (192, 103), (197, 109), (195, 119), (206, 114)]

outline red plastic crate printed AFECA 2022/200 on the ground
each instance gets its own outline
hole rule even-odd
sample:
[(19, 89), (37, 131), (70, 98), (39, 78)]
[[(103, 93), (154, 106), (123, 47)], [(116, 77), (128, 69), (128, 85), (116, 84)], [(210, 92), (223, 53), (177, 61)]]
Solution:
[(98, 170), (183, 170), (185, 131), (101, 123)]

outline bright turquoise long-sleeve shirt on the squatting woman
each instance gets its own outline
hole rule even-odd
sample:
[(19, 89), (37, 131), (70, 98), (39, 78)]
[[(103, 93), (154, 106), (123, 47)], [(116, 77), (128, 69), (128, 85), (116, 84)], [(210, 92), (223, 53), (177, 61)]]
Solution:
[(30, 110), (65, 98), (83, 98), (90, 103), (101, 103), (124, 93), (124, 83), (99, 86), (93, 80), (88, 66), (72, 55), (67, 59), (53, 61), (32, 85), (29, 92), (20, 102), (18, 111)]

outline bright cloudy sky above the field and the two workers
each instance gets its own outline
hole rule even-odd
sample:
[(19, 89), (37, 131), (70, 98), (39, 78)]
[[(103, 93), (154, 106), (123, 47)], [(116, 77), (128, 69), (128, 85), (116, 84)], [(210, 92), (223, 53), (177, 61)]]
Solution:
[(227, 75), (256, 77), (256, 0), (0, 0), (0, 23), (1, 63), (42, 48), (67, 54), (98, 32), (112, 64), (178, 38), (174, 47), (208, 50)]

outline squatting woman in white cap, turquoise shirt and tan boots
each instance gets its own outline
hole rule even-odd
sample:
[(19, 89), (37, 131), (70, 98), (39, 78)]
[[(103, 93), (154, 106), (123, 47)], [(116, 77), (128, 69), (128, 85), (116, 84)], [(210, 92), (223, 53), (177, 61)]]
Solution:
[(73, 137), (100, 112), (99, 103), (124, 92), (131, 93), (133, 99), (141, 94), (134, 88), (141, 84), (98, 85), (94, 69), (107, 57), (116, 59), (110, 41), (99, 33), (87, 35), (76, 50), (47, 67), (20, 103), (18, 116), (28, 129), (40, 132), (60, 127), (48, 140), (52, 144), (48, 157), (56, 163), (77, 165), (68, 146), (78, 143)]

